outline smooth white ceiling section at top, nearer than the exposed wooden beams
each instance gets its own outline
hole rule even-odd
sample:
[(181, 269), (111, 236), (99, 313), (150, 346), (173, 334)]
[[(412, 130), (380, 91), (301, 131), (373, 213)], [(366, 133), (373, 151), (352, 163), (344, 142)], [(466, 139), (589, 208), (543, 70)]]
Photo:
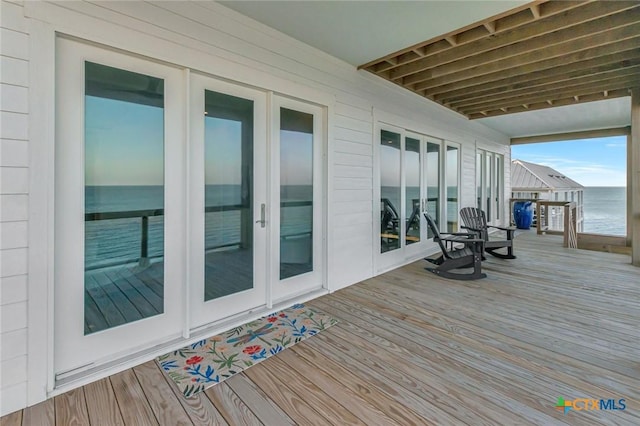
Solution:
[(358, 66), (526, 1), (221, 1)]

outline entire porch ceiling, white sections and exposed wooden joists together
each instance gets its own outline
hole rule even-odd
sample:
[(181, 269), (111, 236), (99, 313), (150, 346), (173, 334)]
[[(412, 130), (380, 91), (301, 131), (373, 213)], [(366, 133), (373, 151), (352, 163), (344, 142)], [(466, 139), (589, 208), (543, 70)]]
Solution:
[(511, 137), (628, 126), (640, 87), (637, 1), (222, 3)]

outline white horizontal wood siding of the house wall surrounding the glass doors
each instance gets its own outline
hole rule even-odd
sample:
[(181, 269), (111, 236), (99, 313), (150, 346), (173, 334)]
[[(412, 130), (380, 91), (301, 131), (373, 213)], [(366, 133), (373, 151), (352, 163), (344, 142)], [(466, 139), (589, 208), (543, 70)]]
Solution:
[[(25, 14), (28, 19), (24, 18)], [(48, 230), (50, 235), (52, 231), (46, 209), (38, 214), (29, 212), (30, 202), (47, 206), (46, 197), (51, 196), (51, 187), (47, 186), (50, 183), (42, 179), (47, 176), (44, 167), (47, 159), (38, 157), (50, 149), (47, 143), (51, 138), (47, 140), (46, 136), (51, 129), (40, 124), (42, 128), (38, 127), (38, 135), (31, 135), (34, 139), (29, 141), (29, 117), (37, 115), (46, 121), (50, 119), (46, 112), (52, 111), (47, 105), (36, 103), (37, 98), (29, 92), (29, 86), (32, 90), (38, 87), (39, 92), (52, 91), (52, 88), (43, 86), (43, 81), (49, 81), (47, 78), (32, 75), (30, 81), (28, 71), (30, 48), (34, 51), (34, 60), (53, 54), (52, 40), (43, 39), (53, 37), (53, 31), (301, 99), (311, 99), (309, 94), (316, 93), (334, 99), (327, 153), (330, 161), (327, 280), (332, 290), (374, 274), (376, 253), (372, 243), (375, 232), (372, 212), (378, 208), (373, 199), (375, 110), (393, 111), (408, 123), (409, 130), (420, 130), (461, 144), (462, 204), (475, 204), (475, 184), (471, 183), (475, 180), (475, 141), (483, 138), (498, 144), (508, 143), (505, 136), (477, 122), (470, 122), (369, 73), (357, 71), (353, 66), (215, 2), (23, 3), (2, 0), (1, 16), (0, 222), (2, 247), (6, 248), (0, 251), (0, 309), (6, 322), (3, 321), (0, 335), (3, 346), (0, 362), (3, 368), (10, 360), (19, 366), (26, 365), (29, 356), (31, 367), (28, 388), (27, 373), (22, 368), (17, 368), (6, 383), (3, 379), (0, 415), (24, 407), (27, 389), (30, 404), (44, 399), (51, 373), (46, 371), (50, 361), (47, 350), (40, 348), (37, 353), (27, 353), (26, 342), (35, 343), (36, 340), (34, 330), (29, 333), (27, 329), (28, 320), (38, 324), (39, 333), (50, 329), (46, 313), (27, 318), (27, 303), (31, 306), (29, 312), (46, 311), (47, 303), (50, 303), (47, 299), (50, 283), (46, 277), (50, 277), (47, 259), (51, 253), (47, 250), (51, 249), (51, 242), (42, 234)], [(48, 33), (31, 31), (45, 27)], [(44, 41), (40, 43), (41, 40)], [(36, 53), (38, 49), (40, 51)], [(39, 71), (38, 67), (35, 69)], [(44, 77), (50, 79), (51, 76), (45, 72)], [(292, 90), (295, 93), (290, 93)], [(31, 174), (36, 183), (29, 182), (29, 164), (39, 165), (33, 167)], [(505, 148), (505, 164), (509, 164), (508, 147)], [(508, 168), (505, 170), (508, 172)], [(508, 179), (505, 194), (508, 194), (507, 185)], [(31, 223), (27, 222), (29, 217)], [(25, 232), (30, 235), (27, 244)], [(29, 258), (32, 265), (28, 265)], [(34, 259), (42, 259), (41, 264), (33, 265)], [(28, 268), (32, 271), (30, 280), (26, 275)], [(38, 271), (37, 276), (34, 270)], [(30, 300), (27, 300), (28, 295), (31, 295)], [(5, 345), (11, 349), (5, 349)], [(45, 349), (51, 350), (50, 347)]]

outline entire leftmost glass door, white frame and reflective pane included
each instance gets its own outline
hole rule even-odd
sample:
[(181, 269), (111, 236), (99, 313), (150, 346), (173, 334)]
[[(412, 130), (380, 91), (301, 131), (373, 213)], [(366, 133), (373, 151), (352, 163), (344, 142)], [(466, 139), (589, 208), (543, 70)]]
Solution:
[[(56, 40), (54, 370), (182, 331), (178, 69)], [(174, 242), (168, 244), (168, 241)]]

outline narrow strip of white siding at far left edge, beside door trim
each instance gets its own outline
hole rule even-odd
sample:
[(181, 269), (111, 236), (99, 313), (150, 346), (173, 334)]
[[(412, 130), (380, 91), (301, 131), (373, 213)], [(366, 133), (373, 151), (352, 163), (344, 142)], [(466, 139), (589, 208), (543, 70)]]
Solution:
[(28, 59), (23, 7), (0, 3), (0, 415), (27, 404)]

